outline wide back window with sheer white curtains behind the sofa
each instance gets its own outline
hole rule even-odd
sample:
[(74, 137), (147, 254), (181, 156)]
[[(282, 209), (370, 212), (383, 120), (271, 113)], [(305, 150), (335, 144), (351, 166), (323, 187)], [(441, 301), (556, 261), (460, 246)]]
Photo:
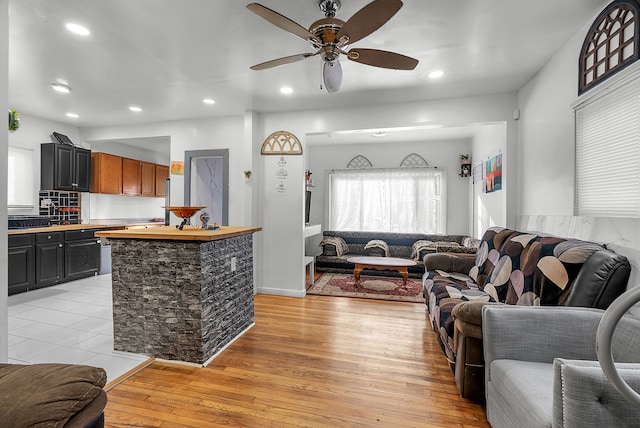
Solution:
[(329, 174), (329, 229), (446, 233), (446, 171), (335, 170)]

